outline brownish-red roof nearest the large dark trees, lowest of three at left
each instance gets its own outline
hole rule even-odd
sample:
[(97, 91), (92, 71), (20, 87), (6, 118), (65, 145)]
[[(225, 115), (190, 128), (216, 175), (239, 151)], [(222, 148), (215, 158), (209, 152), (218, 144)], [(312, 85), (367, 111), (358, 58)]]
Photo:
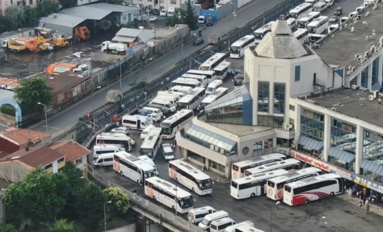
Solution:
[(1, 158), (0, 162), (18, 160), (32, 167), (38, 167), (39, 165), (48, 165), (49, 163), (61, 159), (64, 156), (65, 154), (61, 154), (60, 152), (48, 148), (47, 146), (37, 146), (28, 148), (28, 150), (24, 148), (18, 150), (17, 152), (13, 152), (12, 154)]

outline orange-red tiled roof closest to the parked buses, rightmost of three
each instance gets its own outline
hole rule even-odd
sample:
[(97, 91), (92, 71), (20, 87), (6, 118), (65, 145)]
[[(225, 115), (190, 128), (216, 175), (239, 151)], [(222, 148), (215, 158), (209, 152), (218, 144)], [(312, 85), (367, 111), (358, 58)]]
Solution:
[(82, 156), (86, 156), (89, 153), (91, 153), (90, 150), (84, 148), (75, 141), (60, 141), (57, 143), (51, 143), (51, 145), (49, 145), (49, 148), (56, 150), (61, 154), (65, 154), (66, 161), (76, 161)]

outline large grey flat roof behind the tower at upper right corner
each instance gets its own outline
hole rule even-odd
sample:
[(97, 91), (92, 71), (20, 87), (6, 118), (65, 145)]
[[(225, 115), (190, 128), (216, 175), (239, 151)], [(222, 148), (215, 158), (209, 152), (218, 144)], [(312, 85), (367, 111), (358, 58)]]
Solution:
[[(379, 42), (380, 37), (383, 36), (381, 30), (383, 21), (383, 8), (379, 7), (377, 10), (369, 8), (367, 10), (369, 16), (364, 16), (354, 24), (354, 31), (351, 32), (350, 28), (344, 28), (341, 32), (335, 32), (334, 38), (329, 36), (319, 49), (314, 51), (320, 56), (328, 65), (335, 66), (358, 66), (361, 63), (355, 58), (355, 55), (363, 55), (365, 51), (369, 51), (372, 45)], [(366, 23), (364, 23), (366, 22)], [(372, 31), (375, 30), (375, 36), (372, 36)], [(371, 36), (366, 40), (366, 36)]]

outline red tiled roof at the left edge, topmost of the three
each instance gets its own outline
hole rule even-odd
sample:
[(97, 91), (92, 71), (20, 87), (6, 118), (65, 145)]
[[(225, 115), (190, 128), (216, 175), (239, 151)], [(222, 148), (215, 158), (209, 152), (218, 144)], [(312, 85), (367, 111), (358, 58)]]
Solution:
[(7, 128), (0, 132), (0, 137), (8, 139), (17, 145), (28, 143), (38, 143), (39, 141), (51, 137), (51, 134), (36, 130), (28, 130), (22, 128)]

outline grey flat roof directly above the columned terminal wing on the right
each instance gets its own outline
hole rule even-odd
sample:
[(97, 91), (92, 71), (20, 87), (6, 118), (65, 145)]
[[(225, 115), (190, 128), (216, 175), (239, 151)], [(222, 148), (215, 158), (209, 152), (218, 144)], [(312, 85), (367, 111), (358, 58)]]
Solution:
[(339, 113), (383, 126), (383, 105), (377, 99), (369, 100), (371, 94), (367, 90), (340, 88), (325, 92), (322, 96), (307, 96), (306, 100), (301, 100), (330, 109), (335, 108)]

